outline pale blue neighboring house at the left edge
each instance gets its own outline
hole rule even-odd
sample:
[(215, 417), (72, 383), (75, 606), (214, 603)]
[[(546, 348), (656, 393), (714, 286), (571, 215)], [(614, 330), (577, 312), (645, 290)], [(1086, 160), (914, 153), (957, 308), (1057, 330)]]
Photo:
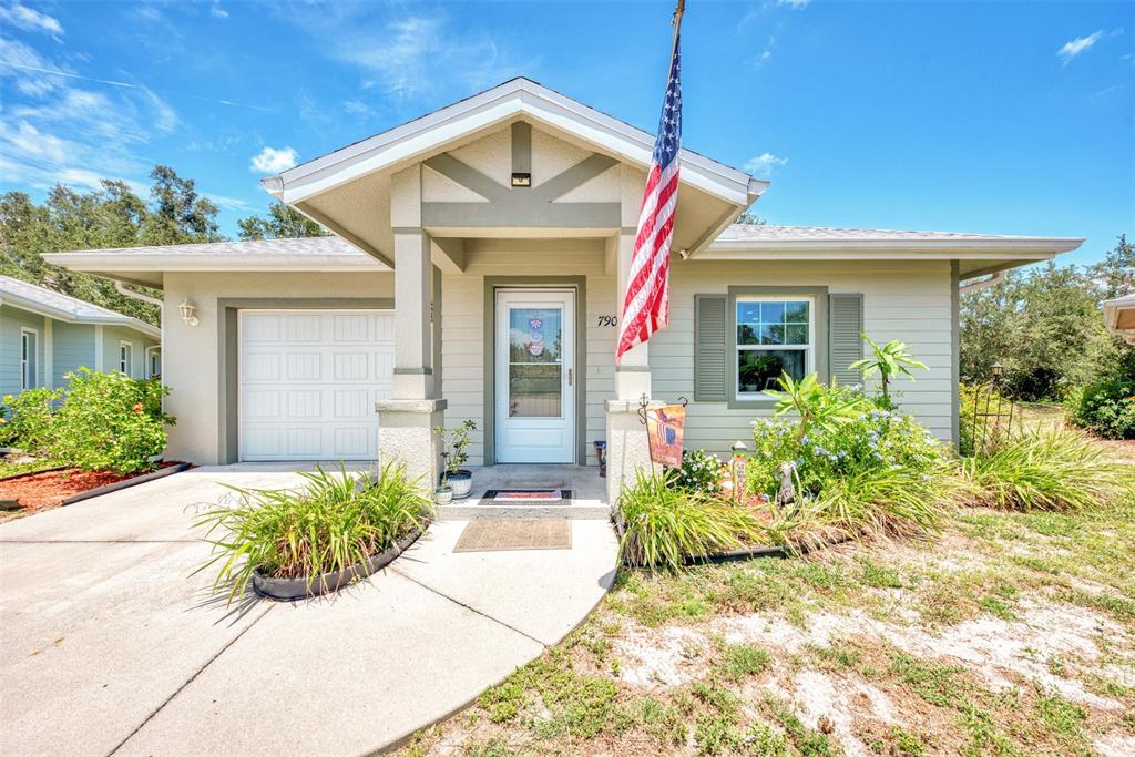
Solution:
[(161, 330), (42, 286), (0, 276), (0, 396), (62, 387), (79, 367), (161, 373)]

